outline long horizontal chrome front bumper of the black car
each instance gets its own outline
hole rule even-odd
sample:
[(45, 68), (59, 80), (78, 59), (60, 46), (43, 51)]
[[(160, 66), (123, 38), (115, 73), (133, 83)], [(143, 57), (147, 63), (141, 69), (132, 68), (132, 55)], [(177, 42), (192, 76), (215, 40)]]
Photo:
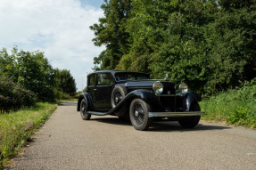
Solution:
[(201, 116), (205, 114), (202, 111), (189, 111), (189, 112), (149, 112), (149, 117), (191, 117)]

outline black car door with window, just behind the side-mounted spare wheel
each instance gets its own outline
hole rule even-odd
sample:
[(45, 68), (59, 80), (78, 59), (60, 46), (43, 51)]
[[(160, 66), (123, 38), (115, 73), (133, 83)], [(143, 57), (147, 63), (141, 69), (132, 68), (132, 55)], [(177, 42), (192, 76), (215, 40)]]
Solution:
[(111, 73), (98, 73), (96, 76), (96, 109), (108, 111), (111, 109), (111, 92), (113, 89), (113, 77)]

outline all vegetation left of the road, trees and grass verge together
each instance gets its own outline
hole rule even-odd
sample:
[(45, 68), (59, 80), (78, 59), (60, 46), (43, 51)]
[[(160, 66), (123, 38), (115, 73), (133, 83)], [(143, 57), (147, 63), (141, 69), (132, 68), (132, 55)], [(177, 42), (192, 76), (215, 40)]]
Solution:
[(53, 69), (43, 52), (0, 50), (0, 169), (76, 90), (70, 71)]

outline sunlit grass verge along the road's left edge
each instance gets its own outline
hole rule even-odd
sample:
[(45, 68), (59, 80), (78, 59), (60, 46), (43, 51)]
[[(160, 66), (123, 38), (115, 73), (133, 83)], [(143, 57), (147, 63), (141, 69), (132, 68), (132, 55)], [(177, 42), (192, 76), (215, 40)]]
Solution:
[(56, 108), (57, 104), (38, 102), (34, 107), (0, 115), (0, 169)]

